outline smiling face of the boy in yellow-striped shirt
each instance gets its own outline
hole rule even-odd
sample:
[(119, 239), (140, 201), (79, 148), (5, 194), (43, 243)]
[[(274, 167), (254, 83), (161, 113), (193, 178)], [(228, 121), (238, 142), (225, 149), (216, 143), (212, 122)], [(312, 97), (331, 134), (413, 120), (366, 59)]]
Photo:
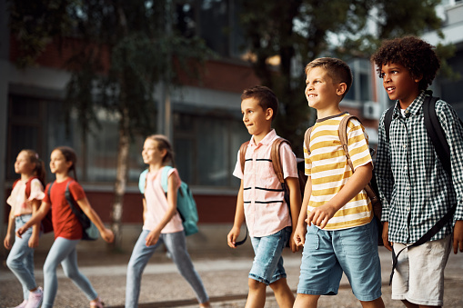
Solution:
[(317, 66), (307, 72), (307, 103), (310, 107), (317, 109), (318, 113), (337, 110), (346, 88), (345, 83), (335, 84), (323, 67)]

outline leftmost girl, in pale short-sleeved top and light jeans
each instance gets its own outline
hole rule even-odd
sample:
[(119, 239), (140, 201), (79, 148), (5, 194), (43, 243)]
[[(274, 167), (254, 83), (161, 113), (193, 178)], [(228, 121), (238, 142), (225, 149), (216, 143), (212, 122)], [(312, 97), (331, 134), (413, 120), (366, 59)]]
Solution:
[(34, 277), (34, 248), (38, 246), (40, 222), (32, 229), (15, 238), (15, 229), (22, 227), (38, 210), (44, 199), (45, 167), (33, 150), (23, 150), (15, 162), (15, 173), (21, 179), (13, 184), (11, 195), (6, 200), (11, 205), (4, 245), (11, 249), (6, 265), (15, 273), (23, 286), (24, 301), (15, 308), (37, 308), (42, 302), (42, 288), (37, 287)]

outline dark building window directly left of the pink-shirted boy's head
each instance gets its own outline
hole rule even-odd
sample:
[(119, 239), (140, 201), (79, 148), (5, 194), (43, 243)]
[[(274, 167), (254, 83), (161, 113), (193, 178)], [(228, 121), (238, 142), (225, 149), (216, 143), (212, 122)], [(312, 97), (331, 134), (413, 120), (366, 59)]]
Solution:
[(174, 114), (174, 148), (181, 178), (188, 184), (230, 187), (240, 144), (250, 136), (231, 117)]

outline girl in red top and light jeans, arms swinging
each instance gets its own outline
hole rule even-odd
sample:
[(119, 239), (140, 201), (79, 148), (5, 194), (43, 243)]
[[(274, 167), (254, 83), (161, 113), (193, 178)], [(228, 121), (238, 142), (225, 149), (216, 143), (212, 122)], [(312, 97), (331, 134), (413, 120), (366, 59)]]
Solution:
[[(82, 186), (69, 176), (69, 172), (75, 174), (75, 163), (77, 157), (73, 149), (67, 146), (59, 146), (53, 150), (50, 160), (50, 169), (56, 176), (55, 184), (50, 191), (50, 197), (45, 194), (44, 201), (37, 213), (23, 227), (17, 230), (20, 237), (25, 230), (36, 222), (42, 220), (50, 208), (52, 211), (53, 229), (55, 231), (55, 242), (46, 256), (44, 264), (44, 301), (42, 308), (51, 308), (55, 302), (55, 295), (58, 288), (56, 278), (56, 267), (59, 263), (63, 266), (65, 275), (84, 292), (90, 301), (90, 307), (102, 308), (103, 303), (98, 298), (95, 289), (86, 276), (79, 272), (77, 267), (77, 253), (75, 246), (82, 238), (82, 225), (79, 223), (71, 207), (65, 199), (65, 189), (69, 183), (69, 192), (76, 204), (84, 211), (90, 220), (96, 224), (101, 237), (108, 243), (113, 242), (114, 234), (106, 229), (98, 214), (88, 203)], [(50, 184), (45, 188), (48, 192)]]

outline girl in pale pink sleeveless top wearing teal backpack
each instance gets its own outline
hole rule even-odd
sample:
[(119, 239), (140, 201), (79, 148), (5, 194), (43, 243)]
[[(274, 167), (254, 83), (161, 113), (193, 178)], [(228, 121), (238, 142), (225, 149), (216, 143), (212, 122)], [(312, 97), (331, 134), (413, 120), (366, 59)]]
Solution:
[(149, 165), (143, 199), (144, 224), (127, 266), (126, 308), (138, 307), (143, 270), (161, 243), (166, 245), (178, 271), (195, 291), (199, 307), (210, 307), (201, 278), (186, 252), (182, 220), (176, 211), (176, 194), (181, 181), (175, 168), (168, 173), (167, 195), (161, 185), (162, 169), (167, 164), (175, 165), (172, 145), (164, 135), (151, 135), (146, 138), (142, 156), (143, 162)]

